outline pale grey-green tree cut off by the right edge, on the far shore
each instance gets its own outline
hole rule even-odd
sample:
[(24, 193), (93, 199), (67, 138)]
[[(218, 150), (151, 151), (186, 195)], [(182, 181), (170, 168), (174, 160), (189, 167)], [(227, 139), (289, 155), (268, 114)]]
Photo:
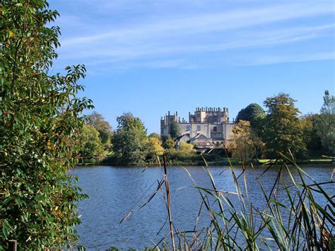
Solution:
[(332, 156), (335, 155), (335, 97), (324, 92), (324, 105), (320, 115), (315, 120), (317, 135), (320, 137), (322, 146)]

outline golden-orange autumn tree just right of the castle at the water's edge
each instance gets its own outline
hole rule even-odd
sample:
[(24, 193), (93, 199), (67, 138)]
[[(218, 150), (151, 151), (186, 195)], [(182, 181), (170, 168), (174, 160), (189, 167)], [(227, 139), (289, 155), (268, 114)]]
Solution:
[(240, 120), (233, 126), (233, 157), (242, 158), (259, 158), (264, 143), (250, 126), (249, 121)]

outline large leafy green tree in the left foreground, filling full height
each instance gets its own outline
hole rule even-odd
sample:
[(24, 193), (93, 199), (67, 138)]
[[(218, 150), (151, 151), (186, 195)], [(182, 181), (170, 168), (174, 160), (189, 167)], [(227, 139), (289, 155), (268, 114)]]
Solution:
[(87, 198), (69, 174), (77, 160), (85, 67), (48, 74), (57, 57), (58, 16), (47, 1), (0, 3), (0, 249), (64, 248), (78, 236), (78, 201)]

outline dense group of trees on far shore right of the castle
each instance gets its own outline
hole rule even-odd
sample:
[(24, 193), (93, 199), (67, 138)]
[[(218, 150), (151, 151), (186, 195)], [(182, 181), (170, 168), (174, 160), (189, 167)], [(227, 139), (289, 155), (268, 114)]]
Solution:
[[(251, 156), (252, 152), (257, 152), (258, 157), (274, 158), (277, 156), (277, 151), (284, 153), (291, 151), (298, 158), (317, 157), (322, 154), (334, 155), (334, 96), (330, 96), (328, 91), (325, 92), (320, 114), (300, 117), (300, 112), (294, 103), (295, 100), (288, 94), (279, 93), (264, 101), (264, 105), (268, 108), (266, 115), (257, 104), (248, 105), (240, 110), (237, 115), (238, 123), (233, 129), (235, 138), (235, 143), (232, 145), (233, 156)], [(236, 130), (244, 120), (242, 118), (250, 122), (250, 128), (243, 136)], [(257, 139), (258, 146), (252, 146), (252, 139)]]

